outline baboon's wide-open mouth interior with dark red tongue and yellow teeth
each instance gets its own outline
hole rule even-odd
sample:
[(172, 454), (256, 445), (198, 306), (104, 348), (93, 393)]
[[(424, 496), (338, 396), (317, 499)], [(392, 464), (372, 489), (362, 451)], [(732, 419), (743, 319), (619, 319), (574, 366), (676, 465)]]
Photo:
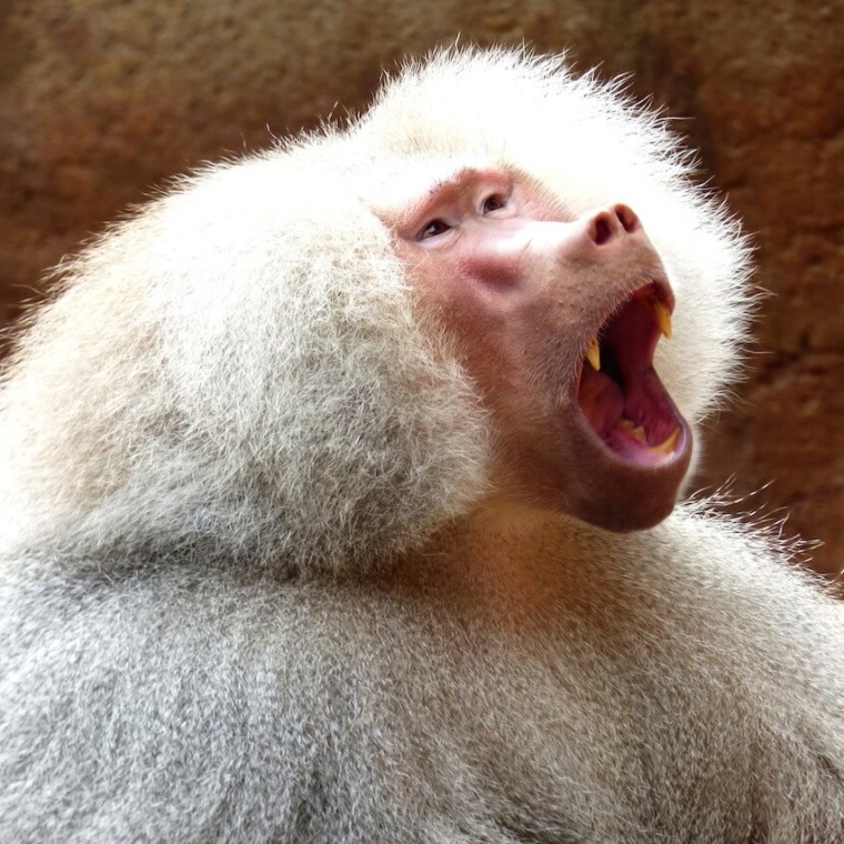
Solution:
[(685, 445), (685, 423), (653, 369), (660, 335), (671, 336), (671, 290), (639, 288), (589, 343), (577, 403), (599, 439), (629, 462), (671, 461)]

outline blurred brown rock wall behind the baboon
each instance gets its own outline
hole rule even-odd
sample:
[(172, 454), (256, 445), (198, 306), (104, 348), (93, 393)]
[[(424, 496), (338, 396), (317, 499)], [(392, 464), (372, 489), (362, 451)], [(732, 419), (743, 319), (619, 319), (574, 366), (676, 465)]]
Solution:
[[(0, 0), (0, 323), (44, 270), (203, 160), (365, 105), (382, 68), (452, 42), (569, 49), (682, 118), (770, 291), (695, 488), (844, 567), (844, 2)], [(491, 115), (494, 123), (494, 115)]]

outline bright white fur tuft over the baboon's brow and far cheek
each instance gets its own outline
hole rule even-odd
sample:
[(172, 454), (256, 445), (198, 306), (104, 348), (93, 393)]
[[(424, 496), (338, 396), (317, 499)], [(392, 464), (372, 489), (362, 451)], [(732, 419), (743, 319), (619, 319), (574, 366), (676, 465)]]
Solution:
[(676, 299), (656, 368), (693, 424), (738, 375), (748, 341), (750, 249), (738, 221), (694, 181), (694, 155), (623, 81), (574, 77), (564, 56), (445, 49), (380, 91), (358, 127), (373, 158), (479, 158), (518, 169), (572, 217), (622, 202), (660, 252)]

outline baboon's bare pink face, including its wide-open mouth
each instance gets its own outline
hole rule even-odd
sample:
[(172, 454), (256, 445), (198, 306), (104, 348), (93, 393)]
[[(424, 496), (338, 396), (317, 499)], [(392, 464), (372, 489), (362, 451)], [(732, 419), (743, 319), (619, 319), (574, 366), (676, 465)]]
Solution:
[(466, 168), (395, 231), (492, 413), (500, 489), (607, 530), (664, 519), (692, 435), (653, 369), (674, 298), (635, 213), (566, 219), (529, 178)]

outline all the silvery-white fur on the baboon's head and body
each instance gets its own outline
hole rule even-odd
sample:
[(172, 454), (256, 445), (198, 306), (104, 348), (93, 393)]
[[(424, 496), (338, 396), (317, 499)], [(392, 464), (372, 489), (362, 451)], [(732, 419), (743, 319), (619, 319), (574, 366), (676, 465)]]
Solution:
[[(62, 269), (0, 394), (0, 840), (844, 841), (844, 611), (764, 532), (499, 505), (389, 209), (493, 160), (630, 202), (709, 413), (746, 250), (654, 117), (446, 52)], [(530, 409), (526, 409), (530, 412)]]

